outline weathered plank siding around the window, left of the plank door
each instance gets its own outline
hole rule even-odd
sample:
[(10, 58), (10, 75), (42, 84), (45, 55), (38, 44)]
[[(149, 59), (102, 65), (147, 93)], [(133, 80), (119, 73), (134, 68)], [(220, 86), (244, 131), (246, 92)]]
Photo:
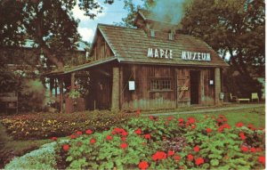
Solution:
[[(175, 108), (174, 69), (170, 67), (126, 65), (124, 67), (123, 101), (121, 109), (171, 109)], [(169, 78), (171, 90), (150, 91), (150, 81), (154, 78)], [(129, 91), (128, 81), (135, 81), (135, 90)]]

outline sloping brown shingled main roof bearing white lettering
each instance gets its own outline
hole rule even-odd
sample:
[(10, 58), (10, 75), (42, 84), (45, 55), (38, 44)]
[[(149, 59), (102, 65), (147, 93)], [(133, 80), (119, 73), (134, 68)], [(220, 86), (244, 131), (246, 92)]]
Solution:
[[(99, 24), (98, 29), (111, 50), (122, 63), (141, 63), (158, 65), (181, 65), (201, 67), (225, 67), (228, 64), (205, 42), (193, 36), (176, 34), (174, 40), (150, 37), (142, 28), (124, 28)], [(147, 57), (148, 49), (171, 49), (173, 59)], [(182, 52), (210, 53), (211, 61), (182, 60)]]

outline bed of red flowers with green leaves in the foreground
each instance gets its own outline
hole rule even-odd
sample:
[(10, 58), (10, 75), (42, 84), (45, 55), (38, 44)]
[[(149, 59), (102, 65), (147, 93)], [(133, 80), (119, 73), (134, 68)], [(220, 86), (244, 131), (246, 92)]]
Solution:
[[(57, 168), (263, 169), (262, 129), (226, 117), (140, 117), (101, 133), (87, 129), (58, 144)], [(56, 138), (54, 138), (56, 140)]]

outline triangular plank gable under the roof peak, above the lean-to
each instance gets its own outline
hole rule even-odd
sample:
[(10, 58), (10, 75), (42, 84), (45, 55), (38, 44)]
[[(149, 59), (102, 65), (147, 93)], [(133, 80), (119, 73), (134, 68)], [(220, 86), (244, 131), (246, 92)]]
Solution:
[(99, 36), (96, 37), (95, 45), (93, 46), (93, 53), (91, 56), (93, 61), (99, 61), (111, 56), (114, 56), (114, 54), (103, 36), (99, 34)]

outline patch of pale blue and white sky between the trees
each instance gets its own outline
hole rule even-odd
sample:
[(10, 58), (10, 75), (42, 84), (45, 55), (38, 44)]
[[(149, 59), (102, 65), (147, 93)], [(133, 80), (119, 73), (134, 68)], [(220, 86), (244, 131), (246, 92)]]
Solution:
[[(78, 6), (73, 9), (73, 15), (76, 19), (79, 19), (78, 33), (82, 36), (82, 39), (86, 42), (92, 43), (95, 29), (98, 23), (114, 24), (121, 22), (122, 18), (127, 16), (127, 11), (124, 9), (123, 0), (115, 0), (113, 4), (104, 4), (104, 0), (97, 0), (103, 10), (98, 13), (92, 20), (84, 15), (84, 12), (79, 10)], [(142, 4), (141, 0), (134, 0), (134, 4)]]

